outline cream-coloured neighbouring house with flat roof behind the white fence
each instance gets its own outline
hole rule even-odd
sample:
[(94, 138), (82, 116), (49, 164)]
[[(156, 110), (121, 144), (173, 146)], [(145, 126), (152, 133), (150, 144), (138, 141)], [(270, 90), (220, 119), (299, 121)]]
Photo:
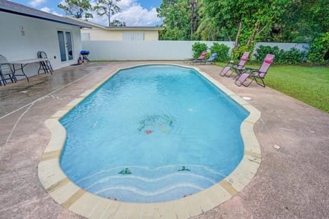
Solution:
[(91, 29), (81, 30), (82, 40), (117, 40), (117, 41), (143, 41), (159, 40), (159, 30), (162, 27), (105, 27), (88, 21), (70, 18), (91, 26)]

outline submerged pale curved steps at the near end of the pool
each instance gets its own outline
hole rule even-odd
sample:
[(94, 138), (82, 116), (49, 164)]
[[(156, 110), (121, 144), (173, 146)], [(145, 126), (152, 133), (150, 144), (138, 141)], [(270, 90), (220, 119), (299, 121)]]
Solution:
[(154, 203), (171, 201), (209, 188), (223, 175), (206, 166), (143, 166), (101, 170), (77, 181), (88, 192), (119, 201)]

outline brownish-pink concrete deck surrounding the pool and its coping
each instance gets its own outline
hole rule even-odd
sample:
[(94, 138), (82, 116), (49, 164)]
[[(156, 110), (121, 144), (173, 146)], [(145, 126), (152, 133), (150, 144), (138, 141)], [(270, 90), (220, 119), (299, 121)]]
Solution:
[[(1, 218), (81, 218), (55, 203), (38, 179), (50, 140), (45, 120), (117, 68), (144, 63), (149, 62), (69, 66), (0, 88)], [(262, 163), (241, 192), (195, 218), (329, 218), (329, 114), (256, 83), (239, 88), (218, 75), (218, 66), (196, 67), (249, 96), (247, 102), (262, 112), (254, 128)]]

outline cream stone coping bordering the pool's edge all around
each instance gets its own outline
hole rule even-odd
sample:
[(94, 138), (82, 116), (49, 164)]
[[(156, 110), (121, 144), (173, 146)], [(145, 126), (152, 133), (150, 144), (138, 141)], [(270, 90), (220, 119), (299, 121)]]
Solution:
[[(151, 65), (156, 64), (152, 63)], [(159, 64), (163, 65), (163, 63)], [(138, 64), (127, 68), (145, 65), (149, 64)], [(199, 68), (180, 64), (165, 65), (182, 66), (197, 70), (198, 73), (202, 74), (208, 81), (215, 84), (249, 112), (249, 116), (243, 120), (240, 128), (245, 149), (239, 165), (228, 177), (210, 188), (191, 196), (163, 203), (114, 201), (87, 192), (75, 185), (60, 168), (60, 155), (66, 141), (66, 130), (59, 120), (119, 70), (127, 69), (118, 68), (114, 73), (96, 83), (93, 88), (80, 94), (77, 99), (62, 107), (45, 121), (45, 125), (51, 132), (51, 139), (38, 164), (38, 177), (45, 190), (56, 203), (86, 218), (190, 218), (228, 201), (252, 181), (261, 162), (260, 145), (254, 133), (254, 124), (260, 118), (260, 112)]]

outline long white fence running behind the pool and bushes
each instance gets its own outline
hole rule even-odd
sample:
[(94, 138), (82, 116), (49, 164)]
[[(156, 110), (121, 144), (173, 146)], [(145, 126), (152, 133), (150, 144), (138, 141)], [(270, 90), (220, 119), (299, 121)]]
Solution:
[[(214, 42), (226, 44), (230, 49), (234, 42), (228, 41), (82, 41), (82, 49), (90, 51), (89, 60), (184, 60), (192, 57), (192, 45), (195, 42), (206, 43), (210, 48)], [(296, 43), (267, 43), (256, 44), (278, 46), (289, 50), (308, 48), (308, 44)]]

